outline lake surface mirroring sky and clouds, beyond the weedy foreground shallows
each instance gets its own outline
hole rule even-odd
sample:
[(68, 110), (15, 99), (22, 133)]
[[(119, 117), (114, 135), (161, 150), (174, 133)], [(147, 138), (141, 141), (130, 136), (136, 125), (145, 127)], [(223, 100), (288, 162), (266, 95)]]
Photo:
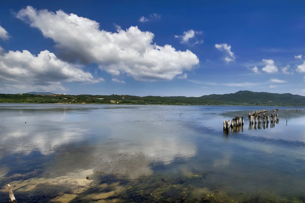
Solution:
[(279, 111), (280, 123), (260, 130), (248, 130), (245, 119), (243, 132), (223, 134), (224, 120), (266, 108), (1, 104), (0, 177), (35, 169), (42, 177), (91, 169), (129, 178), (206, 173), (193, 184), (298, 193), (305, 112)]

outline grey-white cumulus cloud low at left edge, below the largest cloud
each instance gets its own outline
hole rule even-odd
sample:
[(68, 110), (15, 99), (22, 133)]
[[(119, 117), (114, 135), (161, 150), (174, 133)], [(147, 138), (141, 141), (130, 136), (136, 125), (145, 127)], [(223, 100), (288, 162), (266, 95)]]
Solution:
[(7, 89), (66, 90), (61, 82), (96, 83), (80, 66), (58, 59), (48, 50), (37, 56), (27, 50), (9, 51), (0, 56), (0, 84)]

